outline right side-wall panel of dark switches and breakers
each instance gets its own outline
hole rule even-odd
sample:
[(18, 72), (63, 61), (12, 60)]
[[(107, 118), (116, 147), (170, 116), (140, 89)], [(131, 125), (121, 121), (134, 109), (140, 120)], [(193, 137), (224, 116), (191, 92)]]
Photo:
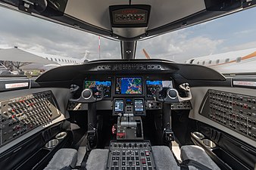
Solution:
[(256, 97), (208, 90), (201, 115), (256, 141)]

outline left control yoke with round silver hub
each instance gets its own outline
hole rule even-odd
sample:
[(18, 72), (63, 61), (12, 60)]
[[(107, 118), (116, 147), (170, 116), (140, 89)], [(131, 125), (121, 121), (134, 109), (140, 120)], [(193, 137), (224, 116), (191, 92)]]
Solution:
[(73, 99), (71, 98), (71, 102), (77, 102), (77, 103), (83, 103), (83, 104), (89, 104), (89, 103), (95, 103), (96, 101), (100, 101), (104, 97), (103, 89), (99, 89), (98, 92), (101, 94), (101, 97), (97, 98), (94, 97), (93, 91), (91, 88), (86, 88), (82, 91), (80, 98)]

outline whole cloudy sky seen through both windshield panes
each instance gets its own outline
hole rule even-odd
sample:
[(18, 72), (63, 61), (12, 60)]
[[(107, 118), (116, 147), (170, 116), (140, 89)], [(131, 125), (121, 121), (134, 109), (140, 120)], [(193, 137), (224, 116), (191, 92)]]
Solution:
[[(184, 63), (192, 57), (256, 48), (256, 8), (139, 41), (136, 57)], [(98, 59), (98, 36), (0, 7), (0, 48)], [(101, 38), (101, 58), (120, 58), (120, 42)]]

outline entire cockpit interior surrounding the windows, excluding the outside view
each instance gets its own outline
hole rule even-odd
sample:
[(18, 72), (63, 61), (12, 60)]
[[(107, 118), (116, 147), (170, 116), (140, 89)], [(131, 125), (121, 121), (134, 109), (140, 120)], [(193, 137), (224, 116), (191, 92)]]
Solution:
[(118, 60), (58, 66), (36, 78), (1, 76), (0, 169), (256, 168), (255, 75), (223, 76), (206, 66), (135, 59), (139, 40), (253, 8), (255, 1), (0, 5), (121, 46)]

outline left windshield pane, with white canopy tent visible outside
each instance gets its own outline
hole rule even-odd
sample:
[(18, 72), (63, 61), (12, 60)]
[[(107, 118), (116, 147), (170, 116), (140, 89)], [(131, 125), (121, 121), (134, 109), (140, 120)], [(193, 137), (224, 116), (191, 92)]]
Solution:
[(2, 7), (0, 20), (0, 75), (38, 76), (56, 66), (120, 58), (118, 41)]

